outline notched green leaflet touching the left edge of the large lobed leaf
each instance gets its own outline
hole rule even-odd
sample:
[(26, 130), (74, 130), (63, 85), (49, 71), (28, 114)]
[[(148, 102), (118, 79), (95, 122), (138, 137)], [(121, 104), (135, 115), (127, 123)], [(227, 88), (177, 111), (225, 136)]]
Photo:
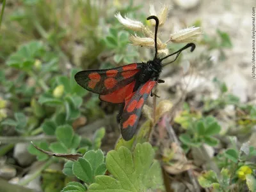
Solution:
[[(104, 154), (103, 152), (98, 149), (97, 151), (88, 151), (84, 154), (84, 159), (86, 159), (90, 165), (92, 166), (92, 173), (93, 177), (96, 176), (96, 170), (101, 166), (101, 168), (98, 170), (98, 172), (102, 171), (102, 164), (104, 164)], [(106, 167), (106, 166), (105, 166)], [(106, 169), (103, 170), (103, 173), (101, 172), (100, 175), (105, 174)]]

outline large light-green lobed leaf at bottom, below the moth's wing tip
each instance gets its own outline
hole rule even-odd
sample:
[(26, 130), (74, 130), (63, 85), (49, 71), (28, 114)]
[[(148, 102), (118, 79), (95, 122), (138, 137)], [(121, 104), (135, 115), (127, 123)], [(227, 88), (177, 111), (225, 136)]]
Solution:
[(126, 147), (120, 147), (118, 151), (109, 151), (106, 166), (115, 179), (99, 175), (95, 183), (89, 187), (89, 191), (150, 191), (159, 188), (162, 184), (162, 181), (158, 183), (161, 170), (157, 172), (154, 150), (148, 143), (137, 144), (133, 157)]

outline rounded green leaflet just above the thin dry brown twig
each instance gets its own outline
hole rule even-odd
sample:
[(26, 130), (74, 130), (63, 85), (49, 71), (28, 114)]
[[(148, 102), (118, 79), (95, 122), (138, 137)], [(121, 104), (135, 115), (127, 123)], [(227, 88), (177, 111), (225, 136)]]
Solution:
[(74, 137), (74, 130), (72, 126), (68, 124), (58, 126), (56, 129), (56, 137), (58, 141), (62, 142), (69, 149), (72, 145), (72, 140)]

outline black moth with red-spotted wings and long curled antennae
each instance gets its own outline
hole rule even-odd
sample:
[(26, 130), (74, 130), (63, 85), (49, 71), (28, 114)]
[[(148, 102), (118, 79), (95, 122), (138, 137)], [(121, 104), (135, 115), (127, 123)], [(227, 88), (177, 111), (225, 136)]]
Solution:
[[(173, 63), (180, 52), (191, 47), (195, 49), (194, 43), (188, 43), (180, 50), (157, 58), (157, 29), (159, 20), (156, 16), (150, 16), (147, 20), (156, 20), (155, 49), (156, 53), (152, 61), (147, 63), (132, 63), (108, 70), (86, 70), (76, 73), (77, 84), (88, 91), (99, 94), (99, 99), (109, 103), (122, 103), (118, 122), (121, 125), (121, 133), (124, 140), (131, 140), (141, 115), (142, 107), (148, 96), (152, 95), (152, 89), (157, 83), (164, 83), (159, 79), (163, 66)], [(173, 61), (163, 64), (162, 61), (172, 55), (176, 57)]]

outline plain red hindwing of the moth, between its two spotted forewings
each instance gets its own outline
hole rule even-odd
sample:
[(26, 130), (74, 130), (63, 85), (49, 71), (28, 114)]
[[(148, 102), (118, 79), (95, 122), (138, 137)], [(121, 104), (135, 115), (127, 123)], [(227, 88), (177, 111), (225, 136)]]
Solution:
[(135, 85), (135, 81), (131, 82), (131, 84), (128, 84), (114, 92), (111, 92), (110, 94), (100, 95), (100, 100), (107, 101), (109, 103), (123, 103), (124, 100), (126, 100), (126, 98), (132, 94), (134, 85)]

